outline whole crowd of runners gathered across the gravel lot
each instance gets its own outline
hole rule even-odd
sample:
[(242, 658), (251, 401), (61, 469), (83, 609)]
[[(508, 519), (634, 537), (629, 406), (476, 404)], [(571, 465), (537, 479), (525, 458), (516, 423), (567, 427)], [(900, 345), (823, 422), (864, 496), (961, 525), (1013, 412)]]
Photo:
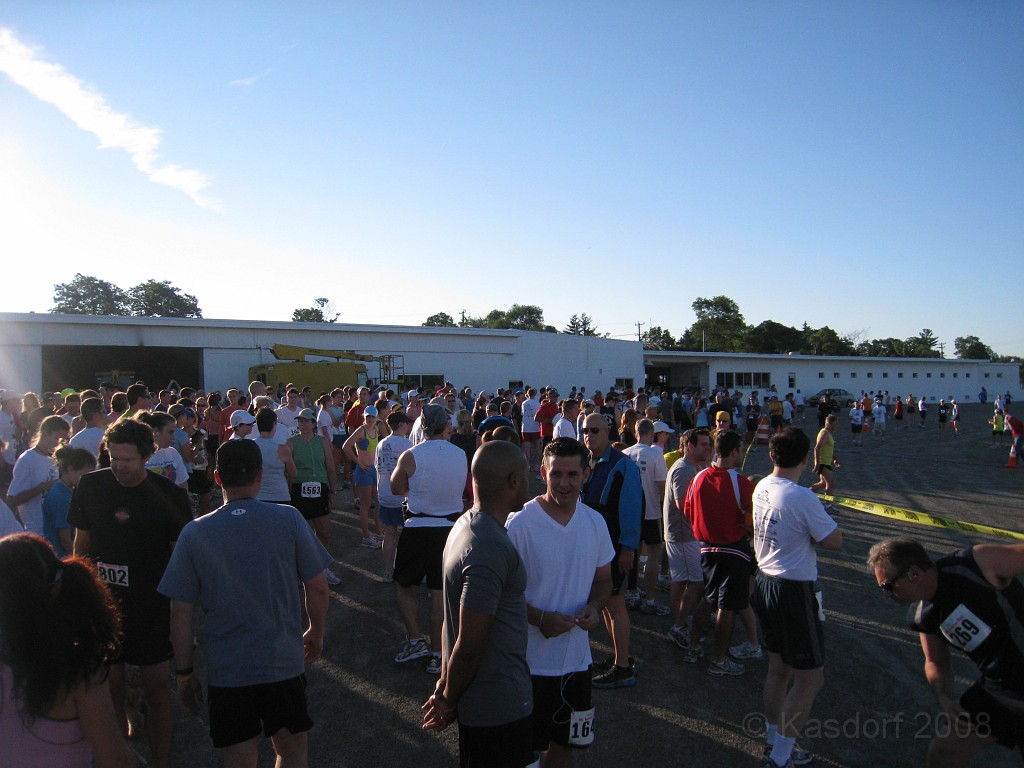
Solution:
[[(631, 612), (667, 616), (681, 660), (714, 677), (767, 657), (762, 764), (805, 765), (796, 740), (825, 660), (815, 553), (843, 543), (815, 492), (835, 493), (840, 418), (851, 449), (926, 428), (930, 410), (939, 430), (961, 432), (952, 398), (865, 392), (847, 412), (774, 387), (136, 382), (0, 400), (0, 734), (27, 766), (134, 764), (133, 696), (154, 764), (169, 766), (172, 688), (191, 711), (204, 698), (197, 633), (225, 765), (255, 765), (261, 736), (279, 765), (305, 765), (303, 671), (323, 648), (329, 590), (344, 589), (329, 520), (348, 488), (359, 544), (393, 585), (394, 662), (437, 676), (423, 727), (457, 723), (463, 765), (569, 765), (594, 739), (592, 689), (637, 684)], [(996, 397), (989, 423), (993, 444), (1006, 431), (1019, 456), (1011, 407)], [(773, 471), (744, 476), (765, 434)], [(817, 481), (802, 484), (809, 471)], [(891, 540), (868, 564), (886, 595), (914, 606), (929, 682), (967, 723), (936, 738), (929, 764), (963, 765), (995, 742), (1020, 750), (1024, 547), (933, 559)], [(39, 595), (48, 608), (30, 621)], [(605, 658), (591, 656), (595, 632), (607, 633)], [(950, 646), (982, 673), (961, 697)]]

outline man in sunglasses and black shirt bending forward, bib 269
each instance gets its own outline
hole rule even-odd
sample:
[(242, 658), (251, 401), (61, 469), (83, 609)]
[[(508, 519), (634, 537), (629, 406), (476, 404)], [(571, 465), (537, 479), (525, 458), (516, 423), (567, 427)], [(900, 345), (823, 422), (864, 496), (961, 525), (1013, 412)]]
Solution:
[[(948, 718), (928, 765), (964, 766), (993, 744), (1024, 751), (1024, 544), (979, 544), (933, 562), (919, 542), (887, 539), (867, 564), (887, 597), (910, 606), (925, 677)], [(958, 700), (950, 646), (981, 672)]]

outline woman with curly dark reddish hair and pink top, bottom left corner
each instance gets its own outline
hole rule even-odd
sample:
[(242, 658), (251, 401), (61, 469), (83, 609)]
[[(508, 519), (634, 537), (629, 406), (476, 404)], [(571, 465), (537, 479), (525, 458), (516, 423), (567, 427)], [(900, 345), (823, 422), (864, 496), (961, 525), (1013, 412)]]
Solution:
[(0, 744), (19, 768), (135, 765), (114, 715), (106, 670), (120, 623), (86, 560), (41, 538), (0, 539)]

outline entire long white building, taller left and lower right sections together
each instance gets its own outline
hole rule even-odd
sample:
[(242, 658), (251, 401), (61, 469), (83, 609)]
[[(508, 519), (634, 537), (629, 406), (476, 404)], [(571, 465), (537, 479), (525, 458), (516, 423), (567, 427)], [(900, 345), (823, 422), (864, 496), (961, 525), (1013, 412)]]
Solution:
[[(446, 380), (494, 390), (525, 383), (564, 393), (572, 386), (593, 392), (647, 383), (668, 391), (724, 386), (748, 392), (774, 384), (805, 395), (846, 389), (963, 401), (975, 400), (984, 386), (989, 400), (1007, 391), (1021, 397), (1013, 362), (659, 352), (636, 341), (514, 330), (7, 312), (0, 312), (0, 387), (84, 388), (122, 372), (151, 388), (173, 379), (224, 390), (245, 386), (250, 367), (275, 362), (275, 344), (387, 355), (397, 364), (392, 373), (409, 386)], [(375, 364), (366, 368), (371, 380), (382, 378)]]

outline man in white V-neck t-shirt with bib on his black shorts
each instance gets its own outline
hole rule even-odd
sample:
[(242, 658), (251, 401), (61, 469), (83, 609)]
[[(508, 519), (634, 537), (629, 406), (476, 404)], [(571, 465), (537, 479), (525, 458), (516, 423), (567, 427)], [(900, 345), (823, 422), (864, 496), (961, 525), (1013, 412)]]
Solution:
[(574, 437), (553, 439), (541, 465), (544, 495), (505, 523), (526, 566), (534, 749), (552, 766), (570, 765), (572, 750), (594, 738), (588, 633), (601, 626), (615, 551), (604, 518), (580, 502), (589, 464)]

